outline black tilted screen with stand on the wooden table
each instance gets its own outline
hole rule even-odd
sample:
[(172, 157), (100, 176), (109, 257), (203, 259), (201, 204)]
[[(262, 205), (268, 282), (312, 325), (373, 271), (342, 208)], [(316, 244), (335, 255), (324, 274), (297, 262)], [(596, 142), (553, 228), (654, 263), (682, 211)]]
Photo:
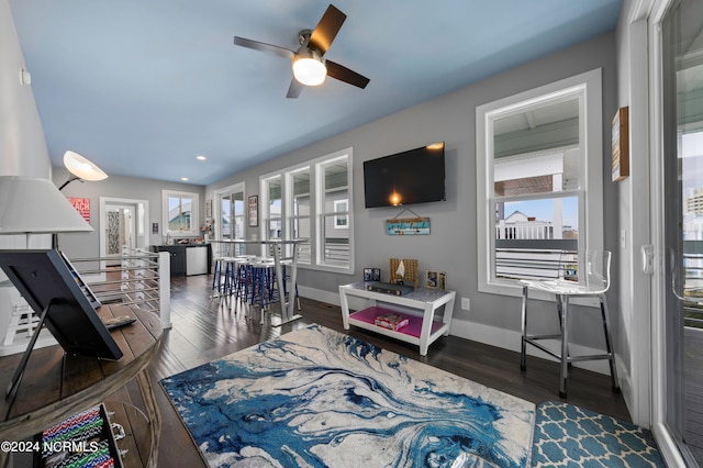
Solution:
[(66, 353), (115, 360), (122, 357), (122, 350), (81, 289), (85, 281), (71, 271), (57, 249), (0, 250), (0, 268), (40, 314), (40, 323), (5, 397), (16, 391), (42, 324)]

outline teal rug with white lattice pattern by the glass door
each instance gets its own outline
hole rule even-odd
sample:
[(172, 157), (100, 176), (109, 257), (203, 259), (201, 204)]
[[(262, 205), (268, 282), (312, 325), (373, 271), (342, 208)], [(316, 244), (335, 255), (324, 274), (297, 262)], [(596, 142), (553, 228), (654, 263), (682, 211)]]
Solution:
[(666, 467), (651, 433), (569, 403), (537, 406), (534, 467)]

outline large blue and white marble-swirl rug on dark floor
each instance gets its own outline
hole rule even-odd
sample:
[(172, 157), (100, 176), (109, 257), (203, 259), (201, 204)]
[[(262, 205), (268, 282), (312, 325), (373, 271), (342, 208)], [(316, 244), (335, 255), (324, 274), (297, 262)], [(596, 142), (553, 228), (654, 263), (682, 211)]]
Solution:
[(533, 403), (320, 325), (161, 385), (212, 467), (529, 464)]

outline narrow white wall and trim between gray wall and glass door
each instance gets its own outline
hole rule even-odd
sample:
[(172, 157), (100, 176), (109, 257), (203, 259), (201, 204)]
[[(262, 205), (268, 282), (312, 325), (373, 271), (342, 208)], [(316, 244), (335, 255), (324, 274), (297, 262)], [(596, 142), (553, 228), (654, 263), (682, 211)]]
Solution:
[[(618, 107), (629, 107), (631, 175), (617, 182), (620, 323), (616, 327), (621, 383), (633, 421), (651, 421), (650, 276), (641, 269), (641, 247), (650, 238), (649, 1), (626, 0), (616, 31)], [(649, 201), (649, 202), (648, 202)]]

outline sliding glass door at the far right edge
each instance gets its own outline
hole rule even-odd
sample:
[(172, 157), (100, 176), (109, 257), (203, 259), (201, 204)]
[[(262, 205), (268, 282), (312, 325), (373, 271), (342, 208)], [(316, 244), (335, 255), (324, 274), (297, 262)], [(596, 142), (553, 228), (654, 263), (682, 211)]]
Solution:
[(703, 1), (661, 23), (665, 423), (689, 466), (703, 464)]

